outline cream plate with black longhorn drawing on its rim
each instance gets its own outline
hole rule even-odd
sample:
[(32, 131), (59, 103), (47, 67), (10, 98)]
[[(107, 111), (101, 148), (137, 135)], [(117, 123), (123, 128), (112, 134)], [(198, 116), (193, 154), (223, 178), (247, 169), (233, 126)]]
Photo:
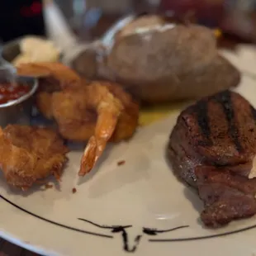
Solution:
[[(256, 107), (253, 78), (237, 91)], [(256, 217), (207, 230), (197, 194), (174, 177), (165, 147), (177, 116), (110, 145), (84, 178), (82, 151), (71, 152), (59, 188), (17, 193), (0, 177), (0, 237), (46, 255), (253, 256)]]

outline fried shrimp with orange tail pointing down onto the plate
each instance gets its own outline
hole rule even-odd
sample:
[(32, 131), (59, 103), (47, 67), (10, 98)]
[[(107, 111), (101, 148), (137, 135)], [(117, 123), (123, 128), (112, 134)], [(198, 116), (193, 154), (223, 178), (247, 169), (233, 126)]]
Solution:
[(114, 83), (55, 92), (53, 116), (59, 132), (69, 140), (86, 141), (79, 175), (89, 173), (108, 141), (130, 138), (138, 125), (139, 106)]

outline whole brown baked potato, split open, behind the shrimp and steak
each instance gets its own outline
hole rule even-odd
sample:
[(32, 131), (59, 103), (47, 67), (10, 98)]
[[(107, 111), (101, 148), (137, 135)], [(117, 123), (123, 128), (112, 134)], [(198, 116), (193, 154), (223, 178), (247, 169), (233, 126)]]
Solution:
[(157, 15), (134, 18), (97, 47), (78, 55), (73, 69), (121, 83), (146, 103), (203, 97), (235, 87), (240, 79), (218, 54), (214, 31)]

